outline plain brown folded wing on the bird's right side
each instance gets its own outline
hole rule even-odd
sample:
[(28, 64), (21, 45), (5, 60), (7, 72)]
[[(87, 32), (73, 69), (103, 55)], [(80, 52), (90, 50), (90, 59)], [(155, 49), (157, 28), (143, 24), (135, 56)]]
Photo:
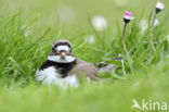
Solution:
[(77, 65), (69, 72), (69, 75), (76, 74), (78, 77), (84, 76), (89, 77), (90, 79), (98, 80), (100, 79), (98, 72), (99, 69), (92, 63), (77, 59)]

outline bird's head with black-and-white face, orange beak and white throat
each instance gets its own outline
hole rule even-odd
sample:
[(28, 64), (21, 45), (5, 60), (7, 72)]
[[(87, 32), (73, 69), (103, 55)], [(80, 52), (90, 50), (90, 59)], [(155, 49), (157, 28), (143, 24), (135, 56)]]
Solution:
[(48, 60), (57, 63), (72, 63), (75, 55), (72, 50), (72, 43), (66, 39), (58, 39), (52, 43), (52, 51), (48, 57)]

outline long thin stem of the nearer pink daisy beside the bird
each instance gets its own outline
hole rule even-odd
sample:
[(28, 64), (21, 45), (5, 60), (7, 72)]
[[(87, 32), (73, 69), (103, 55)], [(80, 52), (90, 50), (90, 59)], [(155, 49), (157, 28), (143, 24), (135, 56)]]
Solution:
[(130, 72), (132, 73), (132, 66), (131, 66), (131, 62), (130, 62), (130, 55), (129, 55), (129, 52), (128, 52), (128, 50), (127, 50), (126, 42), (125, 42), (126, 27), (127, 27), (127, 23), (125, 23), (125, 26), (123, 26), (122, 45), (123, 45), (125, 53), (126, 53), (126, 55), (127, 55), (127, 61), (128, 61), (129, 66), (130, 66)]

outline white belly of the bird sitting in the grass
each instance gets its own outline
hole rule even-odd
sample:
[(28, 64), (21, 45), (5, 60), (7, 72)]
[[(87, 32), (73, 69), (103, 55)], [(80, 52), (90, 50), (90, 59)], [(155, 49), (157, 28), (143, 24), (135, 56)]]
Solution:
[(36, 73), (36, 80), (42, 82), (42, 85), (57, 85), (58, 87), (67, 88), (70, 87), (78, 87), (79, 82), (76, 75), (70, 75), (65, 78), (61, 78), (57, 70), (53, 66), (44, 69), (42, 71), (37, 71)]

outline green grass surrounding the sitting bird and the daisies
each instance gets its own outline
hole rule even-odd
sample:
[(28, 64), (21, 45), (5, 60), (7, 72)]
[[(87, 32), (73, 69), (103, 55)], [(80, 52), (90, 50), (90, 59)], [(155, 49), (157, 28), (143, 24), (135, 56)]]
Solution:
[[(157, 16), (160, 24), (153, 30), (148, 26), (144, 33), (139, 26), (140, 21), (147, 18), (151, 23), (152, 9), (156, 1), (142, 3), (142, 0), (134, 0), (136, 5), (133, 0), (130, 1), (125, 7), (118, 7), (114, 2), (112, 8), (108, 0), (86, 1), (83, 3), (87, 7), (82, 7), (79, 1), (69, 0), (1, 0), (0, 111), (123, 112), (140, 111), (131, 110), (133, 99), (139, 103), (142, 99), (169, 102), (169, 40), (166, 38), (169, 25), (168, 1), (164, 0), (166, 10)], [(64, 3), (76, 11), (76, 20), (73, 23), (63, 23), (57, 18), (56, 8)], [(95, 3), (99, 8), (94, 7)], [(104, 10), (101, 8), (102, 3), (105, 4)], [(146, 8), (147, 11), (143, 11), (144, 4), (152, 9)], [(129, 72), (121, 41), (121, 16), (128, 9), (133, 11), (136, 17), (128, 25), (126, 36), (133, 74)], [(107, 10), (117, 16), (110, 16), (110, 11)], [(108, 18), (109, 27), (103, 33), (93, 30), (89, 22), (90, 17), (98, 13)], [(94, 36), (94, 43), (86, 42), (89, 36)], [(69, 39), (76, 57), (88, 62), (98, 63), (122, 54), (127, 76), (123, 75), (120, 62), (110, 61), (120, 69), (115, 74), (101, 75), (112, 78), (112, 83), (83, 83), (78, 89), (67, 90), (38, 85), (35, 82), (35, 72), (46, 61), (51, 43), (58, 38)], [(154, 43), (153, 51), (151, 42)]]

